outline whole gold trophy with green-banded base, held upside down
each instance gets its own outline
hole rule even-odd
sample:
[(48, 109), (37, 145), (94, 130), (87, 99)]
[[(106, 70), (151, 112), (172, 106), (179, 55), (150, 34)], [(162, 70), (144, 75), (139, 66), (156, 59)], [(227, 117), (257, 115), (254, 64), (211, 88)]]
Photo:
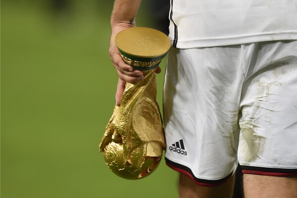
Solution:
[(156, 100), (156, 67), (171, 42), (164, 33), (144, 27), (125, 29), (116, 37), (123, 61), (143, 70), (144, 79), (126, 83), (99, 145), (108, 167), (119, 177), (141, 179), (159, 165), (166, 147)]

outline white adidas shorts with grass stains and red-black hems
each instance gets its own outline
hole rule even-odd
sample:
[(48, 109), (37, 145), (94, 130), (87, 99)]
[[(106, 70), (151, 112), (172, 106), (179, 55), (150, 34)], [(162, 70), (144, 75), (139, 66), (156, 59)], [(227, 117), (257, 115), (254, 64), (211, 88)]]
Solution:
[(297, 175), (297, 41), (176, 49), (164, 85), (166, 163), (216, 186)]

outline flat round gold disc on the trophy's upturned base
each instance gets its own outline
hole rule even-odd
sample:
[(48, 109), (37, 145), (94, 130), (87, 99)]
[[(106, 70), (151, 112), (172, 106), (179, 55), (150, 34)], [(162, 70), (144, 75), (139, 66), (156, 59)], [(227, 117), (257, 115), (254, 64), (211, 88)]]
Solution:
[(132, 27), (120, 31), (116, 43), (122, 52), (142, 58), (165, 55), (171, 46), (166, 34), (147, 27)]

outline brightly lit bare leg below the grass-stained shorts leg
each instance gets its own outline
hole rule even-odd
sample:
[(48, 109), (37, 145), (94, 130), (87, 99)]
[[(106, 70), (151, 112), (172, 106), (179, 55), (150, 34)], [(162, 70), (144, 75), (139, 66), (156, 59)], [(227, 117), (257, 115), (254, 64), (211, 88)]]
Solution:
[(244, 198), (297, 198), (297, 177), (243, 175)]

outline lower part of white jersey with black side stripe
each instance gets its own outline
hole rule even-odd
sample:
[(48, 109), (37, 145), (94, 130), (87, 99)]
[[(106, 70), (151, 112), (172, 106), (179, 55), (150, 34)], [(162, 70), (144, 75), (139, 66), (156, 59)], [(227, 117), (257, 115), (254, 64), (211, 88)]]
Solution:
[(173, 47), (297, 40), (297, 0), (171, 0)]

